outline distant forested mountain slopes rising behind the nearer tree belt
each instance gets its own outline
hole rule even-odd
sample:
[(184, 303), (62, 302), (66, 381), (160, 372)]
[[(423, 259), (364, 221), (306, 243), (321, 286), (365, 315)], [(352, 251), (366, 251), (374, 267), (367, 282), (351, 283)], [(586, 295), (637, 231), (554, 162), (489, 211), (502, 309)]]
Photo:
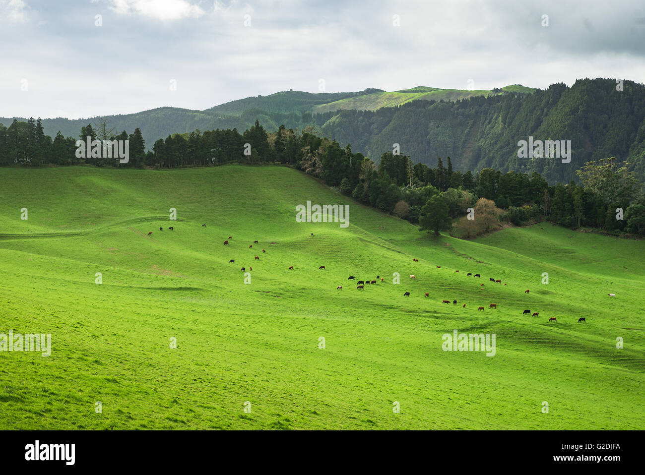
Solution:
[[(375, 111), (338, 110), (313, 113), (317, 104), (357, 97), (356, 93), (281, 92), (250, 97), (204, 111), (159, 108), (108, 117), (117, 130), (139, 128), (147, 150), (174, 132), (249, 130), (257, 120), (275, 132), (281, 124), (292, 130), (314, 126), (322, 135), (352, 144), (378, 162), (384, 150), (399, 144), (401, 152), (427, 165), (437, 157), (452, 157), (455, 169), (478, 172), (537, 171), (550, 184), (581, 183), (577, 171), (586, 162), (606, 157), (633, 164), (645, 180), (645, 86), (615, 79), (579, 79), (571, 87), (553, 84), (530, 94), (503, 93), (455, 102), (417, 100)], [(0, 121), (1, 122), (1, 121)], [(5, 120), (5, 126), (12, 121)], [(21, 122), (21, 121), (19, 121)], [(45, 119), (50, 135), (76, 135), (88, 121)], [(92, 121), (90, 121), (92, 122)], [(519, 141), (571, 141), (571, 162), (547, 158), (520, 159)]]

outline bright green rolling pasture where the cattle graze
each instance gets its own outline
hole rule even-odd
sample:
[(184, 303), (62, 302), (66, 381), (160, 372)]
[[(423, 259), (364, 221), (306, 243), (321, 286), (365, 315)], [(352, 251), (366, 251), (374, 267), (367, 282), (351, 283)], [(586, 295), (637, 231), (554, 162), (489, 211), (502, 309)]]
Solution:
[[(349, 204), (350, 226), (296, 222), (307, 200)], [(279, 166), (3, 168), (0, 229), (0, 333), (52, 334), (49, 357), (0, 352), (1, 429), (645, 423), (642, 241), (544, 224), (435, 240)], [(442, 351), (454, 329), (495, 333), (495, 356)]]

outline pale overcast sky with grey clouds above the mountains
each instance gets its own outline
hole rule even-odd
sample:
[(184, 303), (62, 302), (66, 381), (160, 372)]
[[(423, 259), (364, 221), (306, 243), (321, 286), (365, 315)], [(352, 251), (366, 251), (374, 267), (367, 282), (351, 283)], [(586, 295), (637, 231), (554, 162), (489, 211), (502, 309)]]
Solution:
[(203, 110), (321, 79), (326, 92), (645, 82), (645, 1), (0, 0), (0, 47), (2, 117)]

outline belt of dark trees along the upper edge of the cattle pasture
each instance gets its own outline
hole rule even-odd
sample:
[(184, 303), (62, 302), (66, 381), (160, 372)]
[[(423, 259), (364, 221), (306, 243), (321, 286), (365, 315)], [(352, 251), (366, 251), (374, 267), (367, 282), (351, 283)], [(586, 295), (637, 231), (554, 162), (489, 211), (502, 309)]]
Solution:
[[(77, 141), (129, 141), (129, 160), (88, 155), (79, 158)], [(0, 165), (44, 166), (90, 164), (123, 168), (168, 169), (213, 166), (229, 162), (288, 164), (323, 180), (339, 193), (419, 224), (422, 230), (449, 230), (473, 237), (503, 222), (521, 225), (542, 219), (568, 228), (597, 228), (609, 233), (645, 235), (645, 188), (631, 165), (615, 157), (584, 164), (580, 184), (549, 185), (531, 173), (484, 168), (472, 173), (455, 170), (450, 156), (434, 168), (414, 163), (409, 155), (387, 151), (378, 163), (349, 144), (321, 137), (313, 127), (303, 131), (282, 125), (269, 133), (255, 121), (244, 133), (199, 130), (175, 133), (146, 151), (138, 128), (117, 133), (107, 121), (87, 124), (79, 139), (52, 139), (41, 121), (0, 124)], [(476, 218), (473, 218), (476, 217)]]

